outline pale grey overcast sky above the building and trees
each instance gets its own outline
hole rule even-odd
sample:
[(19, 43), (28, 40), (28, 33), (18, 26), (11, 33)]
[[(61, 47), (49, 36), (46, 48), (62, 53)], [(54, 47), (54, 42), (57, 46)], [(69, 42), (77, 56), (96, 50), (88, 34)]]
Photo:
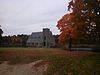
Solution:
[(28, 34), (50, 28), (59, 34), (57, 21), (67, 13), (69, 0), (0, 0), (3, 35)]

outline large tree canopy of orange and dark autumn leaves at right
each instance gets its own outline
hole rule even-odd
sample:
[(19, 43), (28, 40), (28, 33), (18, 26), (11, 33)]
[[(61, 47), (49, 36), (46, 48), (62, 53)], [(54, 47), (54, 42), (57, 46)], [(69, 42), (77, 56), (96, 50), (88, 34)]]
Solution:
[(85, 38), (95, 40), (100, 38), (100, 0), (71, 0), (68, 10), (57, 24), (61, 31), (59, 42), (66, 39)]

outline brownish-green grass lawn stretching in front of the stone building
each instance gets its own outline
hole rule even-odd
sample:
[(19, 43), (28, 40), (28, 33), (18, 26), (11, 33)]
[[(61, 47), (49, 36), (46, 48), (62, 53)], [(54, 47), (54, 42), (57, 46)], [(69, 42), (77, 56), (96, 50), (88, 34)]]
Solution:
[(0, 48), (0, 63), (23, 64), (40, 59), (49, 62), (44, 75), (100, 75), (100, 53), (56, 48)]

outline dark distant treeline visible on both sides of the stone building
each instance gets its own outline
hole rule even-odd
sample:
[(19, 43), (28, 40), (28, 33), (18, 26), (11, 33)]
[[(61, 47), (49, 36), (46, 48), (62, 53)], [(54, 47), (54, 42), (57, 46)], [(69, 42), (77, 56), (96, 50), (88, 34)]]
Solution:
[[(55, 47), (62, 47), (62, 45), (58, 42), (59, 35), (53, 35), (55, 38), (56, 45)], [(26, 47), (26, 42), (29, 35), (13, 35), (13, 36), (2, 36), (0, 38), (0, 46), (1, 47)], [(69, 44), (69, 39), (66, 39), (66, 45)], [(94, 39), (94, 38), (80, 38), (80, 39), (72, 39), (72, 45), (82, 45), (82, 46), (94, 46), (99, 45), (100, 46), (100, 38)]]

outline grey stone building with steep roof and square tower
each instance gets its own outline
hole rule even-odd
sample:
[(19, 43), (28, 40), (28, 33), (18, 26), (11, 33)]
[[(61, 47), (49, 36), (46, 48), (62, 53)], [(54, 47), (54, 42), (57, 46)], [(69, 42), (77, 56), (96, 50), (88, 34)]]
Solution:
[(27, 46), (30, 47), (54, 47), (55, 39), (52, 32), (48, 28), (44, 28), (42, 32), (33, 32), (28, 40)]

